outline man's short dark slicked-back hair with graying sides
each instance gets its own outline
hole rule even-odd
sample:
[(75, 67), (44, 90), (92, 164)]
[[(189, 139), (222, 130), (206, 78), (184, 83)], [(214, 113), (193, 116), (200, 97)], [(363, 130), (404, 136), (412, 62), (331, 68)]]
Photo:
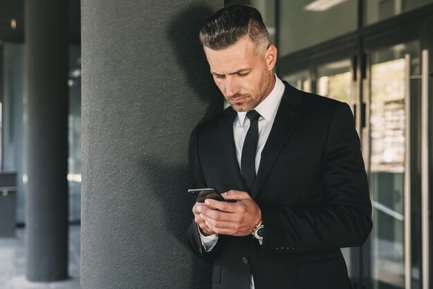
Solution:
[(233, 5), (218, 10), (200, 29), (200, 42), (213, 50), (226, 49), (248, 35), (256, 53), (266, 51), (270, 37), (260, 12), (247, 5)]

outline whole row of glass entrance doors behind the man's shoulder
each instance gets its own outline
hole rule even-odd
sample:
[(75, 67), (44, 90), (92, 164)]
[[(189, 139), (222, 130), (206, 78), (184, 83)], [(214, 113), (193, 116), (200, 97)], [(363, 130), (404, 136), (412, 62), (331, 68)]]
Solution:
[(356, 116), (374, 222), (365, 245), (342, 249), (356, 289), (430, 288), (433, 101), (428, 103), (432, 76), (421, 43), (367, 51), (367, 63), (356, 66), (362, 80), (354, 77), (351, 58), (284, 76), (299, 89), (348, 103)]

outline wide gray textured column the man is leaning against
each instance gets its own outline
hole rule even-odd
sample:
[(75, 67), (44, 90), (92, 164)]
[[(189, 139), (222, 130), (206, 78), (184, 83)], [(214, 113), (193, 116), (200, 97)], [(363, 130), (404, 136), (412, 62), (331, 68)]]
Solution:
[(190, 132), (223, 107), (199, 27), (218, 0), (82, 0), (82, 288), (210, 288), (187, 247)]

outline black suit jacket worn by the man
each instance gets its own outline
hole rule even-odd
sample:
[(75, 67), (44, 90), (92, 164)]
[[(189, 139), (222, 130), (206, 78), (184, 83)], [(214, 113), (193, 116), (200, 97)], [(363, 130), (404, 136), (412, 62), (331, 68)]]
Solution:
[[(288, 85), (261, 154), (252, 198), (265, 226), (252, 236), (220, 235), (205, 252), (193, 221), (190, 245), (214, 262), (213, 289), (351, 288), (340, 248), (365, 243), (372, 227), (367, 175), (349, 105)], [(196, 128), (194, 186), (246, 191), (229, 107)]]

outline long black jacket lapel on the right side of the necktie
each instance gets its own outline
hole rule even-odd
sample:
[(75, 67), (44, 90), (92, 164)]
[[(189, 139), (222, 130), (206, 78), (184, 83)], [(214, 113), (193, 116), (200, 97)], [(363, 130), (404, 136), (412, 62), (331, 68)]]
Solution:
[(301, 112), (302, 105), (300, 103), (302, 103), (302, 96), (300, 95), (300, 91), (288, 85), (287, 82), (284, 82), (284, 85), (286, 86), (284, 95), (281, 103), (279, 103), (277, 115), (275, 116), (275, 121), (270, 130), (266, 145), (261, 152), (261, 160), (254, 190), (252, 191), (252, 198), (255, 198), (257, 193), (259, 193), (261, 185), (266, 179), (270, 168), (272, 168), (275, 159), (277, 159), (279, 152), (281, 152), (284, 144), (290, 137)]

